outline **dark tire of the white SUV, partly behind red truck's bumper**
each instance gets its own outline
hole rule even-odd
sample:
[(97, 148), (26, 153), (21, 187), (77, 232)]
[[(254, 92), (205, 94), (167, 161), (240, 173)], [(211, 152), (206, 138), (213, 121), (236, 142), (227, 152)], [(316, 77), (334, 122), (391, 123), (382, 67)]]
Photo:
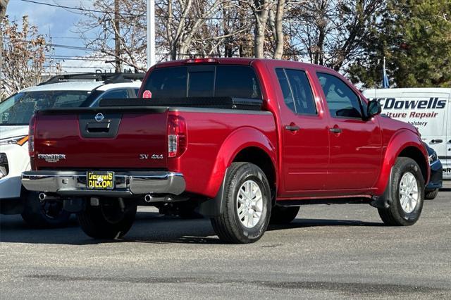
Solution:
[(25, 192), (22, 218), (35, 228), (66, 227), (70, 213), (63, 210), (63, 200), (39, 200), (39, 193)]

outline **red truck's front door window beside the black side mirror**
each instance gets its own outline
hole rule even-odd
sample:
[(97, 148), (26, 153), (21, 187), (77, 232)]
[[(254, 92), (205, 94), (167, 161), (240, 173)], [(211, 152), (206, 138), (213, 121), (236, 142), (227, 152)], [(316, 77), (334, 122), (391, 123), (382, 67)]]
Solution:
[(317, 75), (333, 118), (362, 118), (359, 97), (345, 82), (327, 73)]

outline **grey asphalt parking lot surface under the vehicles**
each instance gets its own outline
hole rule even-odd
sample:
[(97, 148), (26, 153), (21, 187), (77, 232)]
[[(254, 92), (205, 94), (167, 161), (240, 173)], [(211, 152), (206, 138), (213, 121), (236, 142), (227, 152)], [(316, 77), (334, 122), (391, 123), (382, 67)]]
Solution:
[(0, 297), (451, 298), (451, 189), (412, 227), (367, 205), (303, 206), (255, 244), (221, 244), (209, 220), (140, 208), (122, 240), (70, 227), (32, 230), (1, 215)]

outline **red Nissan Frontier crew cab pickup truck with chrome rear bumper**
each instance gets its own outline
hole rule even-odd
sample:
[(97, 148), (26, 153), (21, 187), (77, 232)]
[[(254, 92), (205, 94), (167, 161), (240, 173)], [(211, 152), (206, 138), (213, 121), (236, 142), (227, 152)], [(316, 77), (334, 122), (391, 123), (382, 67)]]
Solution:
[(140, 99), (39, 111), (23, 185), (61, 199), (94, 238), (125, 235), (137, 205), (196, 208), (224, 242), (257, 241), (302, 204), (366, 203), (419, 219), (419, 132), (333, 70), (292, 61), (159, 63)]

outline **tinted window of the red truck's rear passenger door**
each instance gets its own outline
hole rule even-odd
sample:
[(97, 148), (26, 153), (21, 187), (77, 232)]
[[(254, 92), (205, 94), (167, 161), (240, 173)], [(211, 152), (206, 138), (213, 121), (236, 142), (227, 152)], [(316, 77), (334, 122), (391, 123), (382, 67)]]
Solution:
[(276, 69), (285, 104), (295, 113), (316, 115), (316, 104), (307, 74), (302, 70)]

